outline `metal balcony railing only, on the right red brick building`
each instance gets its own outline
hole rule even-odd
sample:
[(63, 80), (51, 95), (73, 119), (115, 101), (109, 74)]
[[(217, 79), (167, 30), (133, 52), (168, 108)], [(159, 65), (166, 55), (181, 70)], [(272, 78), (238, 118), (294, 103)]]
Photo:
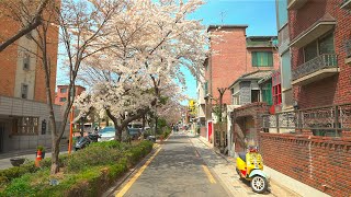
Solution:
[(320, 55), (293, 70), (293, 80), (314, 73), (326, 68), (338, 68), (338, 59), (335, 54)]

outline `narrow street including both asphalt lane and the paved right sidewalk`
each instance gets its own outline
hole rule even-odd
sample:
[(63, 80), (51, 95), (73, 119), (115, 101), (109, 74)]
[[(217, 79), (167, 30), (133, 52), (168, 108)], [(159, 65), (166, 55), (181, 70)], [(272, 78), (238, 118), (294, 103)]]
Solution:
[[(261, 196), (240, 182), (229, 165), (199, 138), (173, 134), (111, 196)], [(295, 196), (282, 188), (275, 192)]]

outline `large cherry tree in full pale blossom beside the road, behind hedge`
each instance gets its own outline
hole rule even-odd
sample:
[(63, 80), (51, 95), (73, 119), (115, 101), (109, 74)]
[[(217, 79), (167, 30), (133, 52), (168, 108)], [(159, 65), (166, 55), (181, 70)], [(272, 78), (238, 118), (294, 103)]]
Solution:
[(81, 112), (90, 107), (106, 112), (121, 140), (128, 123), (176, 93), (174, 84), (185, 84), (181, 68), (197, 74), (207, 53), (207, 33), (200, 21), (188, 18), (202, 4), (202, 0), (127, 1), (109, 21), (106, 36), (97, 40), (110, 47), (84, 61), (86, 81), (95, 85), (77, 102)]

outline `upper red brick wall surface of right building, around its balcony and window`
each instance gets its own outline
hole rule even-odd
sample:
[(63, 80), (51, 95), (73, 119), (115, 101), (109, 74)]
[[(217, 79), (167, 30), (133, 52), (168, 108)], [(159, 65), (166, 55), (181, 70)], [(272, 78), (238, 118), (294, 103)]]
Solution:
[[(342, 0), (309, 0), (299, 10), (291, 10), (290, 36), (295, 38), (318, 19), (329, 13), (337, 20), (335, 28), (335, 47), (338, 55), (338, 76), (327, 78), (304, 86), (294, 86), (294, 97), (301, 108), (350, 103), (351, 101), (351, 67), (344, 63), (346, 51), (343, 42), (351, 39), (351, 12), (340, 9)], [(302, 48), (292, 48), (292, 69), (304, 62)]]

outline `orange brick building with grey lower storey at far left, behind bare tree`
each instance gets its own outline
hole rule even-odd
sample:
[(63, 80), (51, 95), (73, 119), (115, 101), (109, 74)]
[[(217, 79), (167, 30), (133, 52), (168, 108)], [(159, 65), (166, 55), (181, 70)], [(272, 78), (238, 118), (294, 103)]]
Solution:
[[(0, 14), (0, 28), (5, 30), (0, 33), (0, 42), (3, 42), (2, 38), (18, 32), (20, 24)], [(30, 34), (37, 36), (35, 31)], [(58, 49), (58, 28), (55, 26), (48, 28), (48, 43), (54, 95)], [(0, 53), (0, 152), (50, 144), (45, 74), (36, 56), (38, 51), (35, 42), (26, 35)], [(54, 111), (58, 114), (59, 106)], [(60, 117), (57, 120), (61, 121)]]

